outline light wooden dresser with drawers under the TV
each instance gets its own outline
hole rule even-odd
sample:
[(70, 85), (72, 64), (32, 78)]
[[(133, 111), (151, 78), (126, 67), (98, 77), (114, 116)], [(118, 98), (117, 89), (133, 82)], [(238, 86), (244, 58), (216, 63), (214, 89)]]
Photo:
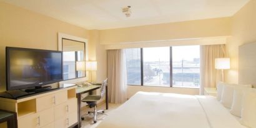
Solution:
[(0, 98), (0, 109), (17, 112), (19, 128), (64, 128), (77, 124), (76, 87), (22, 99)]

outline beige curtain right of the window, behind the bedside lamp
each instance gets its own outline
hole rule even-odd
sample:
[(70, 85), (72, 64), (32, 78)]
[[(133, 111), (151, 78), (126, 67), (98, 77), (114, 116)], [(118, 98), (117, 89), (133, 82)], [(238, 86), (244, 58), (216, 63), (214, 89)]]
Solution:
[(225, 45), (200, 46), (200, 94), (204, 87), (215, 87), (221, 80), (221, 71), (215, 69), (215, 58), (225, 57)]

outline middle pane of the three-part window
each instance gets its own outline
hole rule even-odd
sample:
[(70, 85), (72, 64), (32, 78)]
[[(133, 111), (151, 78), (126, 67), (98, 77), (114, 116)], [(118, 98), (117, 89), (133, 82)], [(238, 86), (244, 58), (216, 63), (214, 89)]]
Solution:
[(144, 86), (170, 86), (170, 47), (143, 48)]

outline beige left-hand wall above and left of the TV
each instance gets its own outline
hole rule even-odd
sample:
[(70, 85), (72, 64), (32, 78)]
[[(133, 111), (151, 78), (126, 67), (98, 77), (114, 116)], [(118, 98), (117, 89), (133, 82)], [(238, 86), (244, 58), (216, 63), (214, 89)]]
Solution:
[(57, 32), (89, 37), (82, 27), (0, 2), (0, 91), (6, 83), (5, 47), (57, 50)]

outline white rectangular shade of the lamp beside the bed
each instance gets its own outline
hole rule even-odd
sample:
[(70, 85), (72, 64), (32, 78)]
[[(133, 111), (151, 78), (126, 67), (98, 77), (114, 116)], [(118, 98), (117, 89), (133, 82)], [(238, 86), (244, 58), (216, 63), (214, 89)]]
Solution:
[(216, 58), (215, 69), (230, 69), (230, 58)]

